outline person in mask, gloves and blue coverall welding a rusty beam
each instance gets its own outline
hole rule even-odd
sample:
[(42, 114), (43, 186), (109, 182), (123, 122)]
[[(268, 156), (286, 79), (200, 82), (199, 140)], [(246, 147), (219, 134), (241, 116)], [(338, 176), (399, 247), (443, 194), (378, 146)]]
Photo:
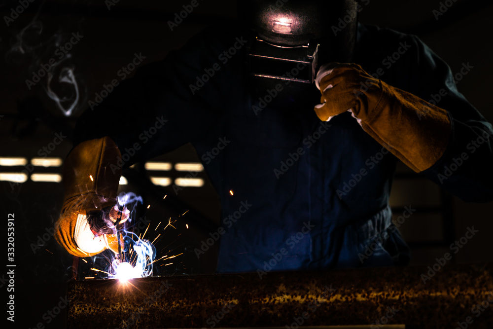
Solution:
[[(358, 24), (363, 5), (239, 1), (238, 27), (206, 28), (121, 82), (77, 122), (57, 240), (94, 255), (101, 245), (74, 232), (89, 212), (105, 218), (121, 169), (186, 143), (209, 160), (221, 218), (251, 205), (225, 228), (217, 272), (256, 271), (281, 251), (272, 270), (408, 263), (388, 203), (398, 160), (462, 200), (492, 200), (492, 125), (418, 37)], [(221, 60), (238, 40), (246, 42)], [(162, 128), (144, 143), (157, 120)], [(221, 139), (229, 143), (208, 157)]]

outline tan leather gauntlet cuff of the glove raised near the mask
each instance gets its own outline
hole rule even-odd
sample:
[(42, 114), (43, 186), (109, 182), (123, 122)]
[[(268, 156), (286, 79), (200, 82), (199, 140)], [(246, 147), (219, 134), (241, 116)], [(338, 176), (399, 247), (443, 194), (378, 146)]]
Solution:
[(379, 81), (358, 97), (354, 115), (371, 137), (415, 172), (434, 165), (445, 152), (451, 134), (446, 110)]

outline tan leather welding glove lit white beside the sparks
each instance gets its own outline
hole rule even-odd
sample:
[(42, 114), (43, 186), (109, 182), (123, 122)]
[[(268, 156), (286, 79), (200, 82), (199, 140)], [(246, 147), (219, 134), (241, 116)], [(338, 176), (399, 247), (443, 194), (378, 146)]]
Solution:
[[(104, 137), (75, 146), (65, 160), (65, 197), (60, 218), (55, 224), (55, 238), (74, 256), (94, 256), (108, 248), (118, 253), (116, 235), (95, 234), (86, 216), (116, 205), (122, 173), (116, 165), (118, 157), (121, 154), (116, 144), (111, 138)], [(115, 221), (115, 210), (109, 214), (109, 218)], [(126, 219), (128, 211), (121, 222)]]

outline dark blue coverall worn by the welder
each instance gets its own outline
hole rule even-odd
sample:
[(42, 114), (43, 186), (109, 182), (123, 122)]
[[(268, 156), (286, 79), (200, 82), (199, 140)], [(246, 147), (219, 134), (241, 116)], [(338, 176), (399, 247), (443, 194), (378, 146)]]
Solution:
[[(246, 87), (245, 37), (239, 29), (207, 28), (143, 66), (81, 116), (75, 143), (110, 136), (122, 154), (138, 143), (128, 167), (191, 142), (222, 206), (217, 272), (407, 263), (409, 248), (388, 204), (396, 157), (348, 112), (321, 122), (313, 110), (320, 100), (315, 85), (296, 110), (262, 108)], [(235, 46), (235, 55), (224, 55)], [(436, 105), (453, 119), (450, 143), (420, 174), (463, 200), (492, 200), (492, 125), (457, 91), (449, 67), (418, 37), (361, 24), (354, 62), (425, 101), (443, 95)], [(211, 68), (214, 74), (203, 79)], [(198, 79), (208, 81), (202, 86)], [(156, 120), (167, 121), (144, 138)], [(220, 143), (212, 158), (208, 152)], [(468, 159), (448, 175), (463, 152)], [(362, 261), (376, 236), (385, 239)]]

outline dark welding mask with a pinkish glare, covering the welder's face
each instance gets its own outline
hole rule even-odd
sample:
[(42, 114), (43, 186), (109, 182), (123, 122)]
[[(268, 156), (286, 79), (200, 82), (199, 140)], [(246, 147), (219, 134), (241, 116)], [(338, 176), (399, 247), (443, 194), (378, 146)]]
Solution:
[(250, 86), (260, 96), (281, 89), (273, 103), (303, 98), (321, 65), (352, 62), (358, 9), (356, 0), (238, 0)]

